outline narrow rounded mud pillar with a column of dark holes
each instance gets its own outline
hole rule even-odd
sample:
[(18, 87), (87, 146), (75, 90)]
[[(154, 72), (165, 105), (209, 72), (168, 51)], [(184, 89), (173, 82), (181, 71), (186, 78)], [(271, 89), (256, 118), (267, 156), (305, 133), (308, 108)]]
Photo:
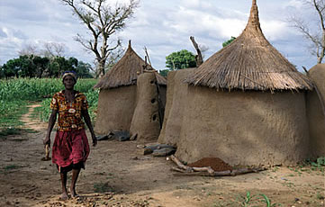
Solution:
[(131, 121), (131, 135), (139, 141), (157, 140), (160, 132), (156, 76), (144, 73), (138, 76), (137, 106)]

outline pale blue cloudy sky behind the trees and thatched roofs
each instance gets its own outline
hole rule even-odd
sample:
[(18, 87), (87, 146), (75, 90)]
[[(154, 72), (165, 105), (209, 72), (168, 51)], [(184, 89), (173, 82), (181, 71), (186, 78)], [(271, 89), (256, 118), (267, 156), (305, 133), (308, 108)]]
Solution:
[[(257, 5), (266, 39), (299, 70), (314, 66), (317, 58), (311, 56), (309, 41), (287, 20), (300, 16), (317, 29), (317, 14), (300, 0), (257, 0)], [(140, 0), (126, 28), (113, 40), (121, 39), (123, 48), (131, 40), (142, 58), (146, 47), (152, 66), (165, 69), (170, 53), (188, 49), (195, 54), (190, 36), (207, 48), (204, 59), (212, 56), (223, 41), (238, 37), (244, 30), (250, 7), (251, 0)], [(74, 40), (77, 33), (86, 35), (86, 26), (59, 0), (0, 0), (1, 65), (18, 58), (18, 51), (27, 45), (41, 49), (46, 42), (62, 43), (67, 48), (66, 57), (93, 63), (95, 55)]]

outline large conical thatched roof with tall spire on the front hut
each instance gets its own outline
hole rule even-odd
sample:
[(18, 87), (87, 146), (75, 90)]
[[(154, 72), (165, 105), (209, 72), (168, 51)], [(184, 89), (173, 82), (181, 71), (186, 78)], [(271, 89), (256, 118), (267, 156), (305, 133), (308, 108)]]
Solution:
[(266, 40), (259, 25), (256, 0), (240, 36), (208, 58), (185, 82), (227, 90), (312, 90), (313, 87)]

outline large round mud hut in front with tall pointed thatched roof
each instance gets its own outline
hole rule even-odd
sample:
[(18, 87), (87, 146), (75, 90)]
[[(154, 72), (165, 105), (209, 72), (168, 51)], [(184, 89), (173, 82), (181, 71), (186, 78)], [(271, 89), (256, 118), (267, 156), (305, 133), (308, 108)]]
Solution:
[(256, 0), (239, 37), (185, 82), (181, 160), (272, 166), (309, 156), (305, 92), (313, 85), (266, 40)]

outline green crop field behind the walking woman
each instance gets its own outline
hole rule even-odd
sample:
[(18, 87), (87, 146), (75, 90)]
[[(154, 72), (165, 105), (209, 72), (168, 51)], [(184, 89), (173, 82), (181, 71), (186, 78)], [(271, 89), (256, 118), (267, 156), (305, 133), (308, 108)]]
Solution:
[[(76, 90), (86, 94), (89, 103), (89, 113), (95, 119), (98, 90), (93, 86), (95, 79), (78, 79)], [(16, 78), (0, 80), (0, 130), (19, 127), (23, 113), (27, 112), (30, 103), (41, 103), (37, 109), (41, 121), (48, 121), (50, 116), (50, 99), (53, 94), (63, 90), (59, 78)]]

